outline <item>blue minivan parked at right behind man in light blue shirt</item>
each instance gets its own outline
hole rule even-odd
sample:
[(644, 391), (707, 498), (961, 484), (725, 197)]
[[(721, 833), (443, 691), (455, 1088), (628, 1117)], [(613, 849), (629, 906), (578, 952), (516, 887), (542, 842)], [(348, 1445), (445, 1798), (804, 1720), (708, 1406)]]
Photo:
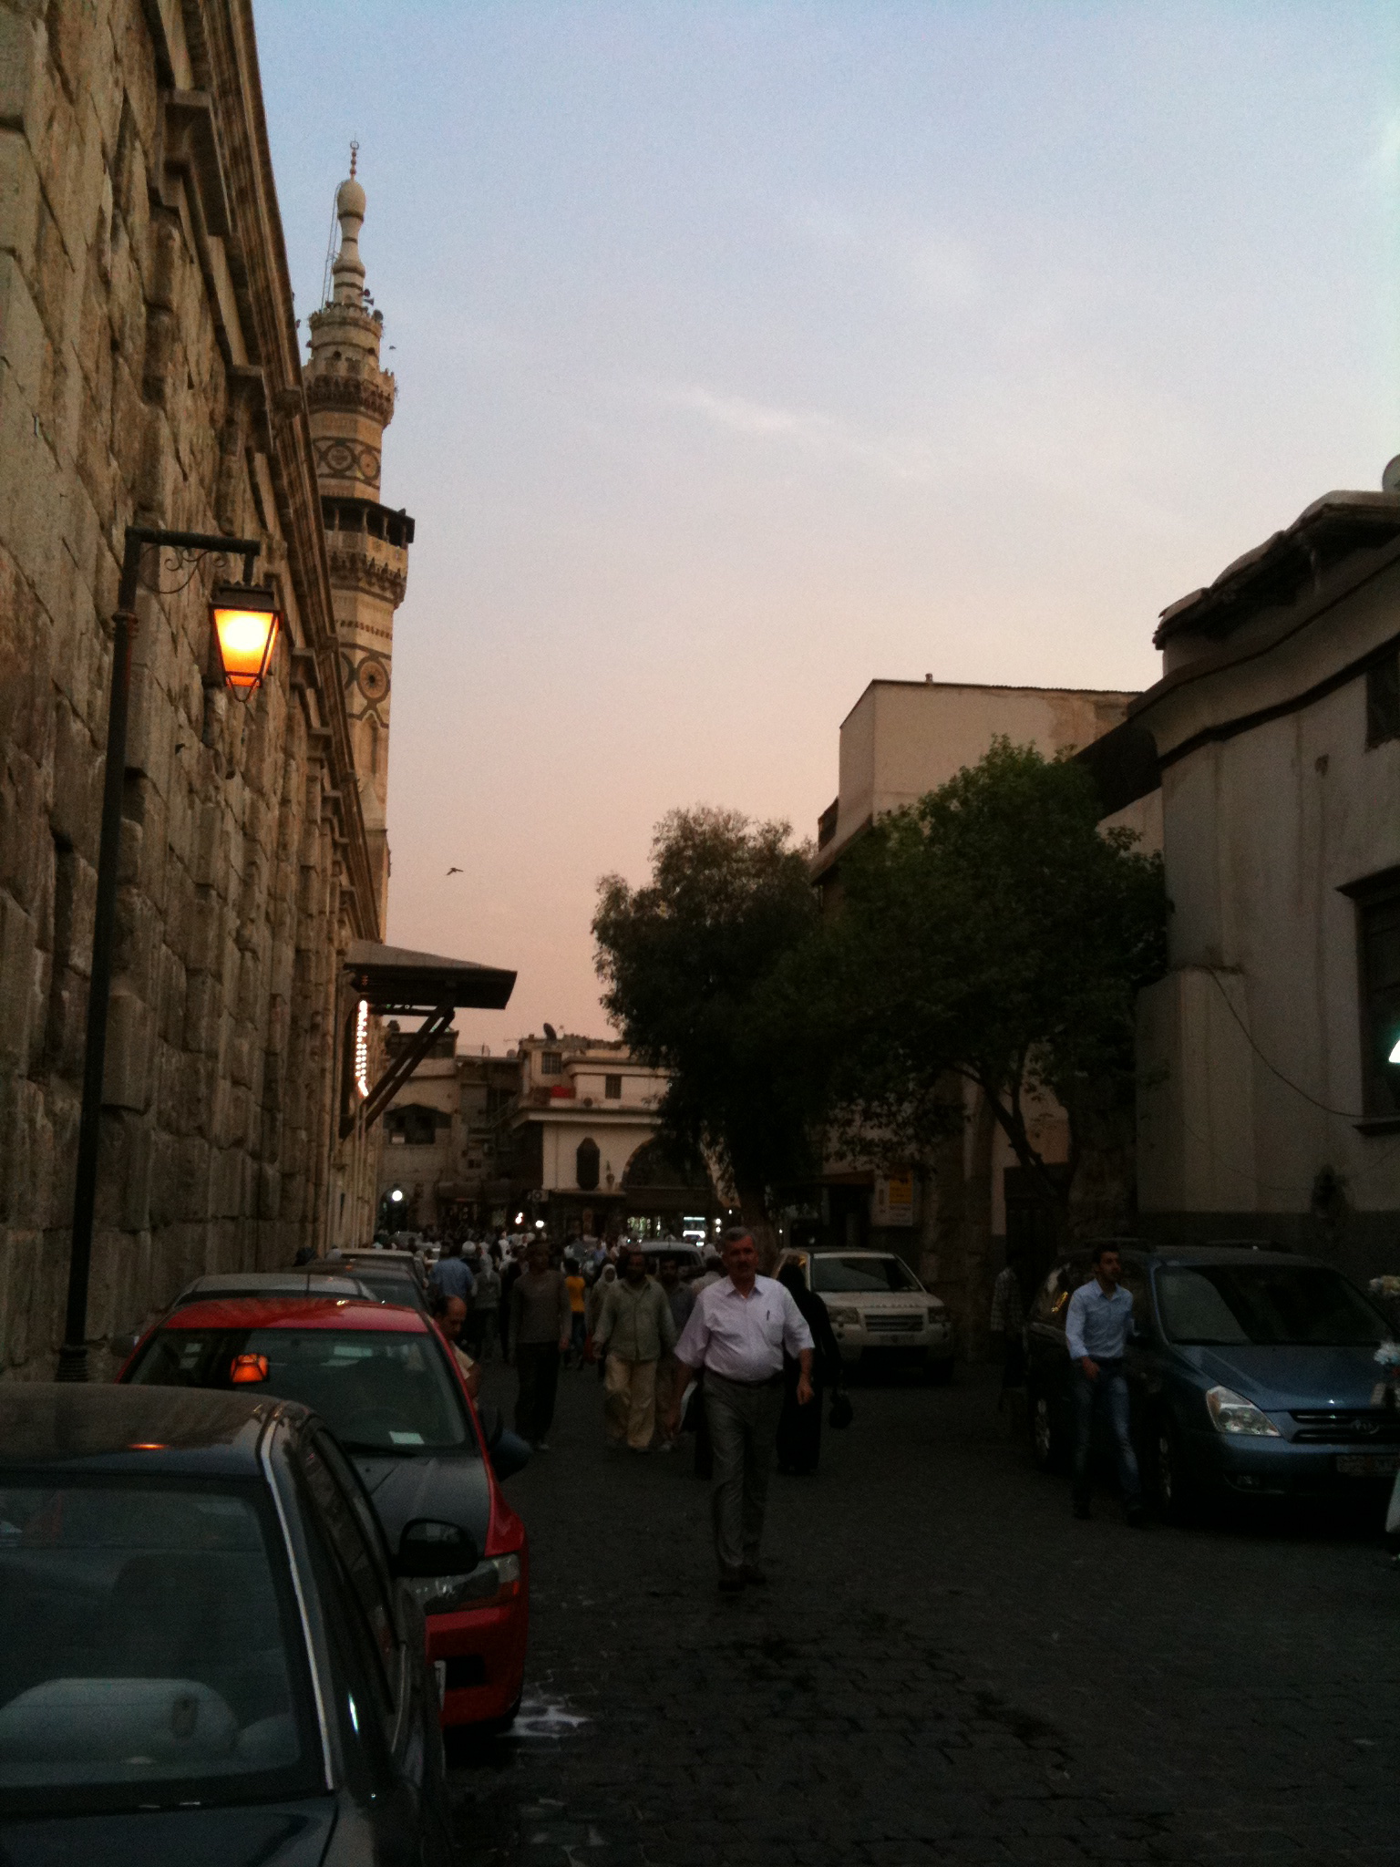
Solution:
[[(1127, 1348), (1133, 1438), (1167, 1518), (1221, 1497), (1357, 1495), (1400, 1469), (1400, 1411), (1376, 1350), (1393, 1331), (1331, 1264), (1254, 1245), (1120, 1243), (1139, 1342)], [(1070, 1296), (1088, 1253), (1057, 1264), (1027, 1320), (1038, 1466), (1073, 1445)]]

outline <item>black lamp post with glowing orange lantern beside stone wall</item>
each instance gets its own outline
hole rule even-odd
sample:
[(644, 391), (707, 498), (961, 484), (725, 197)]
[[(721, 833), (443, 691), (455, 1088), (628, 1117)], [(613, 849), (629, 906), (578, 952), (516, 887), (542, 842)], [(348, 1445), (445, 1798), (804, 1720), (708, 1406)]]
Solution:
[[(106, 769), (103, 775), (103, 829), (97, 844), (97, 900), (93, 904), (91, 980), (88, 988), (88, 1044), (82, 1059), (82, 1113), (78, 1159), (73, 1182), (73, 1243), (67, 1268), (67, 1313), (58, 1380), (88, 1380), (88, 1281), (91, 1230), (97, 1212), (97, 1150), (103, 1118), (103, 1072), (106, 1066), (106, 1014), (112, 1001), (112, 935), (116, 928), (118, 855), (121, 848), (121, 790), (127, 771), (127, 709), (131, 702), (131, 642), (136, 633), (136, 584), (142, 553), (174, 549), (190, 554), (220, 553), (243, 558), (243, 584), (224, 584), (211, 605), (224, 681), (241, 698), (259, 685), (276, 640), (276, 605), (271, 590), (252, 586), (252, 566), (261, 551), (256, 538), (215, 538), (205, 532), (161, 532), (129, 525), (121, 556), (118, 607), (112, 616), (112, 696), (106, 709)], [(230, 644), (220, 629), (220, 605), (230, 618)], [(252, 625), (233, 618), (258, 616), (261, 644), (250, 668)]]

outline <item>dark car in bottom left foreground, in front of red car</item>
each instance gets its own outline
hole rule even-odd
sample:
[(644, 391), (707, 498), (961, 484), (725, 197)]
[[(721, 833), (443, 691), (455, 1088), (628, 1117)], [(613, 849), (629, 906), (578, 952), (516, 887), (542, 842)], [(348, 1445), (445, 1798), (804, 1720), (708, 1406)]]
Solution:
[[(455, 1538), (455, 1540), (454, 1540)], [(306, 1408), (0, 1387), (0, 1858), (448, 1867), (405, 1576)]]

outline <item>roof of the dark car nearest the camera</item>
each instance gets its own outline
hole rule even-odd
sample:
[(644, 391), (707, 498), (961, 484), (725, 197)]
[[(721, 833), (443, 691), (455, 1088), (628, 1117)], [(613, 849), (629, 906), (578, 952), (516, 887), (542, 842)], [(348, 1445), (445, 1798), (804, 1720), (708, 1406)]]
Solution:
[(200, 1387), (4, 1382), (0, 1464), (248, 1477), (259, 1473), (259, 1439), (282, 1411), (306, 1413), (286, 1400)]

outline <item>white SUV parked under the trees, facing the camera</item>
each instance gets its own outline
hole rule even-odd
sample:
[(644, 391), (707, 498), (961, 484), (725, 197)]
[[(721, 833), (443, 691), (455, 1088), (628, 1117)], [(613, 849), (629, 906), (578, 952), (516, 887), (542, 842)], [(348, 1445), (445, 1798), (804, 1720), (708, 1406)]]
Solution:
[(808, 1251), (806, 1283), (827, 1305), (842, 1361), (952, 1380), (952, 1320), (894, 1251)]

